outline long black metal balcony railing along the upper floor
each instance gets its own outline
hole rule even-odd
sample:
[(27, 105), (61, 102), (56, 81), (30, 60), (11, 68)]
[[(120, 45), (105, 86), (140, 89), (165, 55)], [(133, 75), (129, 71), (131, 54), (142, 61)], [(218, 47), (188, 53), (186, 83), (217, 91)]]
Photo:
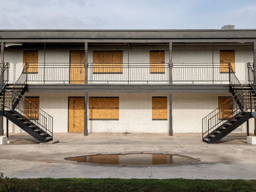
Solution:
[(228, 82), (228, 63), (36, 63), (27, 64), (28, 82), (83, 84), (100, 82)]

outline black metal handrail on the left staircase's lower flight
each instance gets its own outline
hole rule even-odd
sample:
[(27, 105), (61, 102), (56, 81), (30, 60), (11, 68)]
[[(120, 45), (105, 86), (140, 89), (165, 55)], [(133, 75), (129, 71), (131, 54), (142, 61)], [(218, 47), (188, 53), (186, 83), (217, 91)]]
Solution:
[[(16, 97), (18, 100), (16, 107), (13, 109), (11, 99)], [(1, 99), (2, 100), (2, 99)], [(20, 95), (20, 93), (13, 91), (10, 92), (5, 90), (4, 106), (17, 114), (20, 118), (23, 118), (26, 122), (36, 125), (38, 130), (42, 130), (45, 135), (47, 134), (52, 137), (53, 130), (53, 117), (46, 113), (44, 110), (36, 106), (34, 103)]]

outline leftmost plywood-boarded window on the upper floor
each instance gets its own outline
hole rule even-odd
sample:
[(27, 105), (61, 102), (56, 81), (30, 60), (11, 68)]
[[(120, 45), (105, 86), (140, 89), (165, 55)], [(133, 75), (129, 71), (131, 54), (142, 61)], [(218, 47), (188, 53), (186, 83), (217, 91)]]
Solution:
[(23, 68), (28, 63), (28, 73), (38, 73), (38, 51), (23, 52)]

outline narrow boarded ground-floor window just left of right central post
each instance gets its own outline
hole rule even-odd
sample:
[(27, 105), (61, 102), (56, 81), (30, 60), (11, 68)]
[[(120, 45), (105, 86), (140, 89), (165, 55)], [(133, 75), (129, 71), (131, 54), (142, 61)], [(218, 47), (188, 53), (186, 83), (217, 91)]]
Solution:
[(167, 97), (152, 97), (152, 120), (167, 120)]

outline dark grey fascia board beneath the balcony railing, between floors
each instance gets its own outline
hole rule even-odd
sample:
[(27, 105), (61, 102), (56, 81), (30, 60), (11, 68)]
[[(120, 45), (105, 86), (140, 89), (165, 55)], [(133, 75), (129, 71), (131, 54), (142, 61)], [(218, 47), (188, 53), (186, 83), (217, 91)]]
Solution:
[(26, 92), (109, 92), (109, 93), (229, 93), (223, 84), (29, 84)]

